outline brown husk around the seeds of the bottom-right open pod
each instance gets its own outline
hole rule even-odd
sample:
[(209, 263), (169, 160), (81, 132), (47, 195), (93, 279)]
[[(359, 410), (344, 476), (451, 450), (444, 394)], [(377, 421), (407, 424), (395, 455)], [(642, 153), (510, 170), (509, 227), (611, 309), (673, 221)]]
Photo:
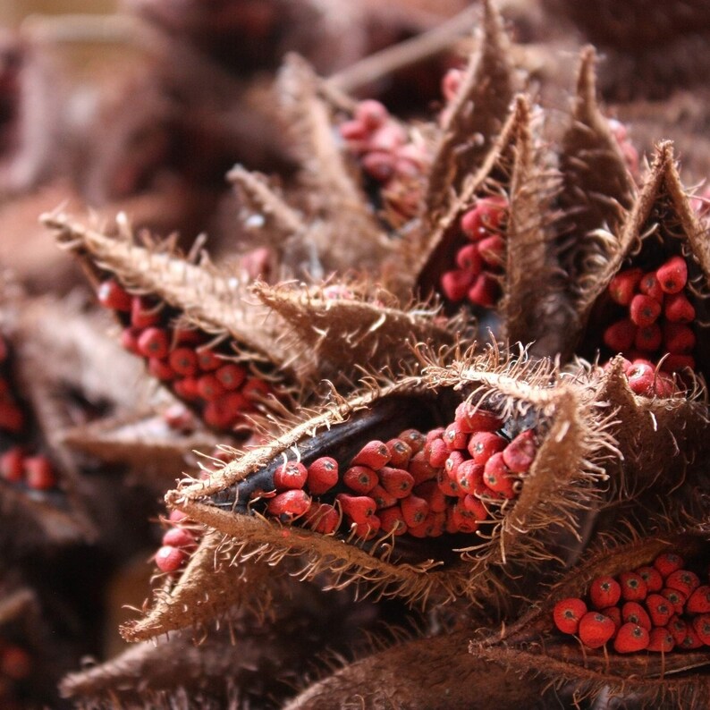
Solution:
[(563, 637), (553, 623), (553, 608), (561, 599), (584, 596), (592, 579), (617, 575), (651, 564), (665, 552), (680, 554), (691, 567), (707, 561), (706, 531), (656, 532), (630, 542), (597, 546), (572, 568), (527, 614), (482, 641), (471, 643), (477, 658), (506, 666), (534, 667), (550, 685), (572, 683), (575, 700), (633, 696), (642, 707), (695, 707), (710, 689), (710, 655), (706, 650), (665, 654), (641, 651), (620, 655), (613, 650), (582, 647), (577, 638)]

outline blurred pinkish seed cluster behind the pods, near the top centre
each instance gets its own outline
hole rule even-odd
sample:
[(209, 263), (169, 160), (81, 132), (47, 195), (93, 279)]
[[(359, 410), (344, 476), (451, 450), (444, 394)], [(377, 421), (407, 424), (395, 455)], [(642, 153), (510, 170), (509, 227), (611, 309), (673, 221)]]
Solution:
[(354, 118), (341, 123), (340, 134), (365, 173), (385, 187), (418, 177), (427, 165), (424, 146), (412, 142), (379, 101), (361, 101)]

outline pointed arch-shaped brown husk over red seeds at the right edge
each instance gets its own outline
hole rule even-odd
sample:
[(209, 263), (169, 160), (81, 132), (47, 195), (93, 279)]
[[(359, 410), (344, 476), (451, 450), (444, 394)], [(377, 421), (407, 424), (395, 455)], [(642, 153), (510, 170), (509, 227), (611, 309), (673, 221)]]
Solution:
[[(655, 241), (657, 245), (653, 243)], [(710, 289), (710, 244), (680, 182), (671, 143), (657, 146), (647, 181), (621, 227), (618, 240), (610, 239), (606, 243), (604, 261), (596, 269), (595, 278), (584, 280), (579, 291), (579, 334), (570, 341), (574, 343), (581, 339), (577, 352), (593, 356), (599, 348), (601, 332), (605, 325), (609, 325), (604, 323), (604, 314), (599, 313), (599, 309), (604, 308), (604, 292), (622, 268), (629, 264), (635, 266), (638, 259), (645, 258), (647, 245), (653, 245), (652, 248), (665, 258), (676, 254), (685, 258), (689, 267), (689, 285), (697, 300), (696, 308), (703, 312), (703, 300)], [(658, 254), (655, 261), (658, 263), (651, 266), (660, 266)], [(698, 319), (694, 325), (702, 328)], [(572, 328), (571, 333), (574, 330)], [(706, 358), (707, 338), (697, 337), (700, 372), (704, 371)]]

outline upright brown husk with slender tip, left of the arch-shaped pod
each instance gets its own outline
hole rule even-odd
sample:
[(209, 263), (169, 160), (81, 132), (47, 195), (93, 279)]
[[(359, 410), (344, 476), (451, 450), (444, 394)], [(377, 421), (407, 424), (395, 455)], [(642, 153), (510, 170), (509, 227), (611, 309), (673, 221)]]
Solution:
[(593, 232), (616, 234), (633, 204), (635, 186), (619, 143), (596, 103), (596, 53), (582, 50), (571, 124), (562, 136), (558, 225), (561, 266), (573, 288), (593, 282), (604, 266), (605, 244)]

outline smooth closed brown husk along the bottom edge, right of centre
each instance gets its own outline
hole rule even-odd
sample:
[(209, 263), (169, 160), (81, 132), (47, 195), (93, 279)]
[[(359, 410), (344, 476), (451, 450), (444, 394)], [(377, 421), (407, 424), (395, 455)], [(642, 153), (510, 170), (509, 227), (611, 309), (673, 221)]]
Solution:
[[(498, 668), (466, 653), (470, 632), (405, 641), (346, 665), (303, 690), (283, 710), (514, 710), (546, 707), (545, 683), (519, 665)], [(424, 682), (422, 680), (424, 679)]]

